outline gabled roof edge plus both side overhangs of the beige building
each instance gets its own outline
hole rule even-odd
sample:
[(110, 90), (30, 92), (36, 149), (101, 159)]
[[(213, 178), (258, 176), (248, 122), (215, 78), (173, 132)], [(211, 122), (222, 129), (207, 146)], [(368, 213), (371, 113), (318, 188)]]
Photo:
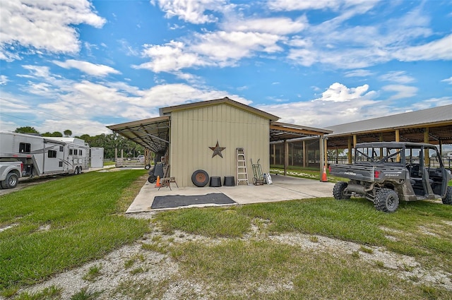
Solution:
[(171, 113), (183, 109), (194, 109), (216, 104), (230, 104), (247, 112), (257, 114), (270, 121), (270, 141), (289, 140), (292, 138), (302, 138), (307, 136), (323, 136), (333, 131), (328, 129), (313, 128), (307, 126), (299, 126), (295, 124), (287, 124), (277, 122), (278, 116), (268, 114), (260, 109), (250, 107), (246, 104), (231, 100), (228, 97), (217, 100), (209, 100), (203, 102), (176, 105), (172, 107), (163, 107), (160, 109), (160, 115), (155, 118), (143, 119), (139, 121), (131, 121), (127, 123), (110, 125), (107, 128), (119, 133), (124, 138), (133, 140), (142, 145), (144, 148), (150, 149), (156, 153), (165, 153), (169, 145), (169, 126), (171, 121)]

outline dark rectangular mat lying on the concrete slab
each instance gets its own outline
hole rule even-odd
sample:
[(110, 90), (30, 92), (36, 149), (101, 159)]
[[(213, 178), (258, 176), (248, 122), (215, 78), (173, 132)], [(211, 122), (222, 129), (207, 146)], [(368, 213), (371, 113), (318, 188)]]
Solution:
[(196, 204), (233, 204), (234, 200), (224, 193), (208, 193), (207, 195), (182, 196), (168, 195), (155, 196), (150, 208), (179, 208), (180, 206)]

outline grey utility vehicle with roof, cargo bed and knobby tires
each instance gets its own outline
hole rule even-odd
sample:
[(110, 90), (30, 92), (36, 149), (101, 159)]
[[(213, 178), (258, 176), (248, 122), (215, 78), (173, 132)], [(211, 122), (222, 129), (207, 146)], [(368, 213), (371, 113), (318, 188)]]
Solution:
[(377, 210), (394, 212), (399, 200), (441, 199), (452, 205), (450, 170), (435, 145), (374, 142), (355, 146), (354, 164), (331, 164), (330, 174), (348, 179), (333, 188), (337, 200), (351, 196), (371, 200)]

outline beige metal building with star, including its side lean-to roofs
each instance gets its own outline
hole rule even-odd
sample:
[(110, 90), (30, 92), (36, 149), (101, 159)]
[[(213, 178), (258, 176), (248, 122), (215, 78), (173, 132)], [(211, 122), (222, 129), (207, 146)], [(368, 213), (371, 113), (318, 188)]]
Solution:
[(167, 157), (179, 186), (194, 186), (192, 174), (235, 176), (237, 148), (244, 148), (249, 183), (251, 159), (270, 170), (270, 140), (323, 136), (330, 130), (278, 122), (278, 116), (228, 97), (160, 109), (160, 116), (107, 126), (144, 148)]

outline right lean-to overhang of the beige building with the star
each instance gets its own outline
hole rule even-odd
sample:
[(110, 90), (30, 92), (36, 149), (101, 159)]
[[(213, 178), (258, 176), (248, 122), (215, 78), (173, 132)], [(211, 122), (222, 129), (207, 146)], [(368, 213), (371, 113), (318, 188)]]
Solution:
[(292, 140), (295, 138), (323, 136), (328, 133), (333, 133), (333, 131), (328, 129), (270, 121), (270, 142)]

